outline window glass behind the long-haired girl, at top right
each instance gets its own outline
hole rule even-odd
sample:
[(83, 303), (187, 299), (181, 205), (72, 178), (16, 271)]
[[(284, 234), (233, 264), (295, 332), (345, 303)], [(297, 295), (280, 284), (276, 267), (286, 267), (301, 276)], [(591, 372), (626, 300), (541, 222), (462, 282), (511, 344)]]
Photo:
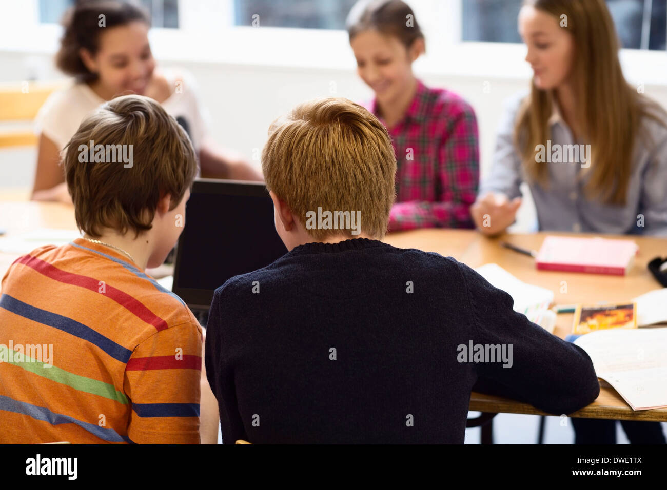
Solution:
[[(464, 0), (463, 40), (520, 43), (522, 0)], [(666, 49), (667, 0), (607, 0), (623, 47)]]

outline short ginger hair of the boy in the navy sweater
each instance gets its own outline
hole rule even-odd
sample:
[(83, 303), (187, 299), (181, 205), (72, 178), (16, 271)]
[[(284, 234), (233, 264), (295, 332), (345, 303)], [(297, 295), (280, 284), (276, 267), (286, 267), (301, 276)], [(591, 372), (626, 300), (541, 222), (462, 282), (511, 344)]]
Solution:
[[(394, 204), (396, 157), (387, 130), (348, 99), (297, 105), (269, 127), (266, 187), (306, 223), (308, 211), (360, 211), (361, 231), (382, 238)], [(351, 230), (307, 229), (317, 240)]]

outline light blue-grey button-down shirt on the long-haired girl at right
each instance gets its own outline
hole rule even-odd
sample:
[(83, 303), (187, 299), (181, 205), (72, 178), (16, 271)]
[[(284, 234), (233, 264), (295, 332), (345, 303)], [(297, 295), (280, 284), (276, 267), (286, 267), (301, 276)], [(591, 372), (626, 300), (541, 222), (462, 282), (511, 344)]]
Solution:
[[(520, 153), (514, 146), (514, 121), (522, 99), (516, 97), (507, 105), (498, 131), (491, 173), (482, 182), (480, 195), (496, 191), (514, 199), (522, 195), (522, 182), (527, 182), (540, 230), (667, 236), (667, 127), (644, 118), (643, 128), (652, 145), (646, 145), (644, 139), (636, 143), (627, 203), (609, 205), (599, 199), (586, 198), (586, 178), (579, 178), (585, 171), (582, 163), (544, 163), (549, 167), (550, 185), (546, 189), (526, 179)], [(552, 147), (582, 143), (574, 141), (558, 108), (549, 123)]]

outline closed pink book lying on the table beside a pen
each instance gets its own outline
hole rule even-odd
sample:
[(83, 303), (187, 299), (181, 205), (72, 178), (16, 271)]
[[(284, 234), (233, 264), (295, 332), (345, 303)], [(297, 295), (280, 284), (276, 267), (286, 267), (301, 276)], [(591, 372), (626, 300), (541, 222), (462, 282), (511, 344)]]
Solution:
[(535, 261), (546, 271), (625, 275), (637, 251), (631, 240), (548, 236)]

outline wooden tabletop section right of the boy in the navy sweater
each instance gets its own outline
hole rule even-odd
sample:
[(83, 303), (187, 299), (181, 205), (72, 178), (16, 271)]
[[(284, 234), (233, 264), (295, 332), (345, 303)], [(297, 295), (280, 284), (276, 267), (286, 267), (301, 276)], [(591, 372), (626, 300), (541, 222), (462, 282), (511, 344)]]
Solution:
[[(412, 247), (427, 252), (437, 252), (441, 255), (451, 255), (473, 268), (486, 263), (497, 263), (526, 283), (554, 291), (554, 303), (557, 305), (630, 301), (661, 287), (646, 266), (650, 260), (667, 253), (667, 239), (664, 238), (606, 235), (607, 238), (632, 239), (639, 245), (634, 264), (624, 276), (538, 271), (532, 257), (500, 246), (501, 241), (506, 241), (523, 249), (538, 251), (547, 235), (598, 236), (574, 233), (532, 233), (504, 234), (500, 237), (489, 238), (478, 231), (424, 229), (390, 234), (385, 241), (396, 247)], [(554, 335), (564, 339), (572, 332), (573, 321), (573, 313), (558, 315)], [(571, 375), (571, 373), (563, 373), (563, 375)], [(606, 383), (603, 382), (603, 385)], [(476, 392), (470, 396), (470, 410), (487, 413), (550, 415), (527, 403)], [(570, 414), (570, 417), (667, 422), (667, 408), (634, 411), (615, 389), (603, 386), (596, 401)]]

